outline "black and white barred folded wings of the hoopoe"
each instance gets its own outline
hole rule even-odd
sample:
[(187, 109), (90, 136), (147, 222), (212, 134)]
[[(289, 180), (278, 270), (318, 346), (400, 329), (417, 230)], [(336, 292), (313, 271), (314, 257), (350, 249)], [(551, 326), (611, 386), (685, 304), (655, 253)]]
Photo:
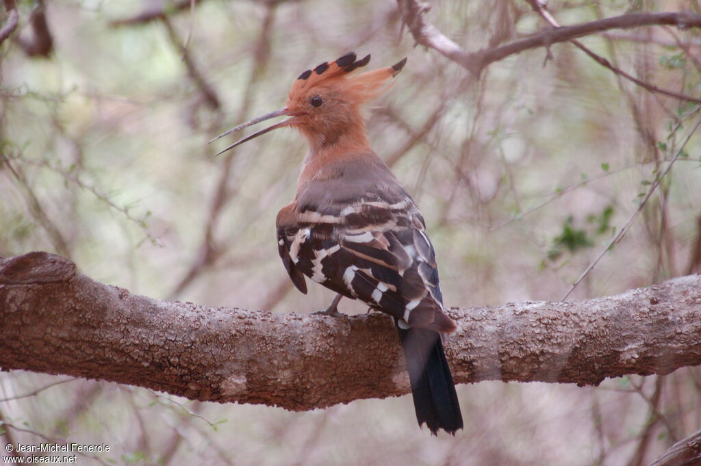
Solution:
[(291, 213), (294, 224), (278, 217), (278, 245), (302, 292), (304, 274), (409, 327), (455, 329), (442, 312), (435, 252), (411, 198), (363, 198)]

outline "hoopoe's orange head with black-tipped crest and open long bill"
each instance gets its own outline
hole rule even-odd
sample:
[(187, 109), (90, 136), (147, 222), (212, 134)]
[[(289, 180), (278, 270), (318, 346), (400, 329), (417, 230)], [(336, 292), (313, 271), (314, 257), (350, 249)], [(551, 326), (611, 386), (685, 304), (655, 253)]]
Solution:
[(364, 67), (369, 61), (370, 55), (356, 60), (355, 53), (348, 53), (334, 62), (324, 62), (314, 69), (304, 71), (294, 81), (285, 108), (238, 125), (212, 141), (277, 116), (290, 118), (254, 132), (219, 153), (285, 126), (301, 130), (313, 146), (332, 144), (341, 135), (353, 130), (364, 132), (360, 107), (388, 89), (390, 80), (402, 71), (407, 59), (404, 58), (391, 67), (353, 74), (353, 71)]

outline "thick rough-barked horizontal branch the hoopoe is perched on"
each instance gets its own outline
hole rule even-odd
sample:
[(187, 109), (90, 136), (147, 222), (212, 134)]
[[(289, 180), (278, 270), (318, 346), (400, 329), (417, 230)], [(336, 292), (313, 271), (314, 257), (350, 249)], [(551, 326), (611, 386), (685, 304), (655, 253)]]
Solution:
[[(456, 383), (598, 384), (701, 364), (701, 276), (585, 301), (452, 308)], [(158, 301), (60, 256), (0, 259), (0, 367), (102, 378), (190, 399), (306, 410), (402, 395), (385, 315), (273, 314)]]

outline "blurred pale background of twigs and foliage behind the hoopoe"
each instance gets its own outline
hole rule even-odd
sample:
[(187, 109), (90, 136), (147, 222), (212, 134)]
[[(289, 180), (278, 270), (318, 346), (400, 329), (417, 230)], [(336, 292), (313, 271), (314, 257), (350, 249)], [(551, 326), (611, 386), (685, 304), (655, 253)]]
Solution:
[[(546, 25), (521, 0), (433, 1), (465, 50)], [(551, 1), (564, 25), (696, 0)], [(697, 273), (698, 106), (653, 94), (569, 43), (475, 79), (414, 47), (381, 1), (18, 1), (0, 48), (0, 256), (43, 250), (157, 299), (306, 313), (334, 294), (292, 287), (274, 221), (306, 147), (292, 130), (224, 156), (207, 141), (283, 106), (294, 78), (355, 50), (369, 69), (409, 58), (369, 108), (369, 138), (421, 207), (447, 306), (562, 299), (679, 155), (621, 242), (570, 299)], [(2, 13), (4, 14), (4, 13)], [(6, 18), (0, 15), (0, 19)], [(701, 95), (698, 29), (581, 39), (637, 78)], [(341, 302), (341, 312), (365, 306)], [(106, 443), (79, 464), (646, 465), (701, 428), (701, 371), (460, 385), (455, 437), (416, 427), (411, 398), (303, 413), (190, 402), (115, 383), (0, 373), (4, 442)]]

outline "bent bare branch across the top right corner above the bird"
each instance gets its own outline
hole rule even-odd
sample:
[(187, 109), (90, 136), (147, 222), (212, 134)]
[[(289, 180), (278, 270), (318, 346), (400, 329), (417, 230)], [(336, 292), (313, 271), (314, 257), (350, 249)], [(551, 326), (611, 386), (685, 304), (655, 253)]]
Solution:
[(462, 67), (479, 74), (487, 65), (524, 50), (550, 47), (553, 43), (571, 41), (608, 29), (628, 29), (631, 27), (672, 25), (679, 28), (701, 27), (701, 16), (690, 12), (631, 13), (614, 16), (580, 25), (554, 27), (525, 39), (519, 39), (503, 46), (486, 48), (477, 52), (467, 52), (451, 41), (437, 27), (424, 18), (428, 5), (418, 0), (398, 0), (404, 22), (406, 22), (416, 43), (433, 48)]

